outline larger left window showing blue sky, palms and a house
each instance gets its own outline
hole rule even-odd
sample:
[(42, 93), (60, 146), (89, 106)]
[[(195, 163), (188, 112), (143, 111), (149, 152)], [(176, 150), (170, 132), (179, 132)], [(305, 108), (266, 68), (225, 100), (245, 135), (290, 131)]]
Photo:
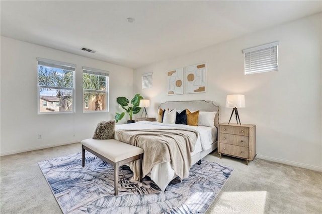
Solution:
[[(38, 60), (38, 114), (73, 113), (75, 65), (37, 58)], [(39, 106), (40, 100), (48, 100), (50, 108)], [(57, 106), (59, 103), (59, 106)], [(43, 108), (46, 107), (46, 108)]]

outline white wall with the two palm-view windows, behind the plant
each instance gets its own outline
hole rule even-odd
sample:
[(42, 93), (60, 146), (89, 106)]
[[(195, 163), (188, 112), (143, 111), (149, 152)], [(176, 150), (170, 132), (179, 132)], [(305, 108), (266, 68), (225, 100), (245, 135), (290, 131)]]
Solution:
[[(37, 57), (76, 64), (75, 114), (37, 114)], [(83, 113), (82, 66), (110, 72), (108, 113)], [(133, 69), (1, 37), (1, 155), (92, 137), (99, 121), (120, 112), (116, 97), (133, 95)]]

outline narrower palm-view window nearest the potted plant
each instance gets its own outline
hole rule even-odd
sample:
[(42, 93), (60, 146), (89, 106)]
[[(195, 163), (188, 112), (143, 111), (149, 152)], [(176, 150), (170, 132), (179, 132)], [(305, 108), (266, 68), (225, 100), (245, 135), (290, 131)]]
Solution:
[(83, 67), (84, 112), (108, 111), (109, 72)]

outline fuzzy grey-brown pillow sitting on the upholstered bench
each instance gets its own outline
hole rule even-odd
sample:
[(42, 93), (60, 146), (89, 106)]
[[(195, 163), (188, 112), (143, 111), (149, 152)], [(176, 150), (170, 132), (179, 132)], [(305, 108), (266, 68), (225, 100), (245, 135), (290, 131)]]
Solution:
[(101, 121), (97, 124), (93, 139), (106, 140), (114, 138), (115, 120)]

